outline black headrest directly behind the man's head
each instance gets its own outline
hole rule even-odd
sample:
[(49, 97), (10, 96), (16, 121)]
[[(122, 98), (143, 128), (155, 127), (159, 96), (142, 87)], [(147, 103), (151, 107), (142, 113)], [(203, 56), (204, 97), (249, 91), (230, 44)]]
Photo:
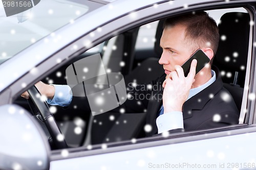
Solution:
[(224, 14), (219, 23), (220, 41), (214, 64), (220, 70), (245, 71), (248, 56), (250, 16), (243, 12)]

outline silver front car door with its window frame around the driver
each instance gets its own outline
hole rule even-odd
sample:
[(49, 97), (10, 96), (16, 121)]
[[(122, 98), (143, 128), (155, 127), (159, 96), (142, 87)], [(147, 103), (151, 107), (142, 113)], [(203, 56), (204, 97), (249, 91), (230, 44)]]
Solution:
[[(55, 150), (51, 152), (50, 169), (255, 168), (256, 158), (255, 154), (251, 152), (256, 149), (254, 144), (256, 137), (255, 97), (253, 97), (255, 96), (253, 87), (255, 71), (253, 65), (255, 60), (253, 46), (254, 3), (253, 1), (152, 1), (138, 2), (139, 8), (136, 8), (136, 1), (121, 1), (102, 7), (97, 13), (89, 15), (91, 18), (84, 16), (78, 19), (78, 24), (72, 26), (71, 30), (77, 29), (76, 26), (82, 26), (80, 23), (82, 21), (88, 24), (90, 21), (93, 22), (93, 19), (110, 13), (110, 16), (102, 23), (95, 21), (92, 23), (92, 28), (83, 31), (82, 36), (78, 36), (74, 41), (58, 48), (58, 51), (54, 51), (49, 58), (36, 65), (36, 68), (41, 70), (36, 77), (27, 74), (10, 85), (9, 88), (13, 92), (12, 99), (15, 99), (22, 90), (26, 90), (25, 87), (20, 89), (21, 82), (27, 81), (29, 85), (32, 85), (44, 78), (44, 74), (47, 75), (55, 71), (91, 47), (127, 30), (177, 14), (197, 10), (230, 9), (232, 11), (232, 8), (236, 7), (244, 8), (250, 14), (248, 61), (241, 108), (242, 123), (224, 128), (170, 135), (164, 133), (147, 138), (132, 138), (131, 140), (87, 144), (78, 148)], [(129, 7), (126, 9), (126, 13), (120, 12), (120, 16), (114, 16), (115, 10), (119, 13), (123, 6)], [(137, 64), (136, 61), (134, 63)]]

